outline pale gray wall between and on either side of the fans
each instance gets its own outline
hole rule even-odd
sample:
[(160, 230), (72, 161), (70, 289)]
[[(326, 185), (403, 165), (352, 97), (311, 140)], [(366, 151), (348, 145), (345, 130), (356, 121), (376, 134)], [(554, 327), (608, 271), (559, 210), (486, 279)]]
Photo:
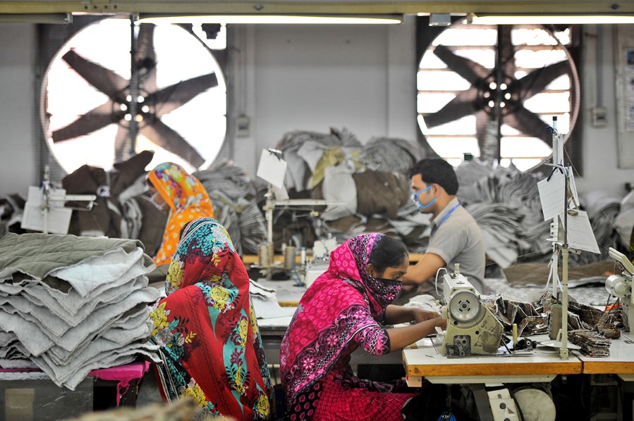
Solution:
[[(584, 32), (584, 177), (577, 187), (581, 194), (600, 189), (623, 196), (634, 170), (617, 168), (614, 35), (610, 26)], [(229, 153), (253, 177), (262, 148), (290, 130), (346, 127), (361, 142), (415, 140), (413, 18), (395, 26), (245, 26), (233, 35), (231, 113), (248, 115), (250, 132), (234, 137), (229, 130)], [(39, 182), (35, 42), (35, 25), (0, 24), (0, 196), (26, 194)], [(607, 108), (606, 127), (590, 124), (597, 105)]]

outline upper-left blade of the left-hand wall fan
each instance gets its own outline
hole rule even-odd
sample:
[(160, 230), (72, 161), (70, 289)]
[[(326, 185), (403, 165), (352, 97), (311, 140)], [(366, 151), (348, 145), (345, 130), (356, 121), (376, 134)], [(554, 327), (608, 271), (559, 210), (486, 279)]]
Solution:
[(63, 55), (63, 60), (75, 70), (88, 83), (106, 94), (113, 101), (123, 103), (126, 100), (126, 89), (130, 82), (117, 75), (112, 70), (106, 69), (97, 63), (83, 58), (74, 50), (69, 50)]

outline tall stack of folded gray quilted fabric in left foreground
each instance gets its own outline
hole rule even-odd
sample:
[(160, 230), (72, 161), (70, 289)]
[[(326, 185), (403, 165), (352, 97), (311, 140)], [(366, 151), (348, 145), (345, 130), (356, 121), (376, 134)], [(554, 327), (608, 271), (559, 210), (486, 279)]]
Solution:
[(39, 367), (74, 390), (91, 370), (157, 360), (148, 343), (154, 268), (138, 240), (0, 239), (0, 367)]

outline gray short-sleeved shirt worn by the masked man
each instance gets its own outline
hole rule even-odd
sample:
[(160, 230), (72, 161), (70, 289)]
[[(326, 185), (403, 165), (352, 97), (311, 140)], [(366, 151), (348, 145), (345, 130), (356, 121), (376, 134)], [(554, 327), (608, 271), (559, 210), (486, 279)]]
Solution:
[[(454, 263), (460, 264), (460, 272), (480, 292), (487, 294), (484, 287), (485, 251), (482, 233), (477, 222), (453, 199), (432, 220), (432, 233), (429, 236), (427, 253), (437, 254), (446, 263), (449, 272), (453, 272)], [(449, 217), (445, 218), (449, 214)]]

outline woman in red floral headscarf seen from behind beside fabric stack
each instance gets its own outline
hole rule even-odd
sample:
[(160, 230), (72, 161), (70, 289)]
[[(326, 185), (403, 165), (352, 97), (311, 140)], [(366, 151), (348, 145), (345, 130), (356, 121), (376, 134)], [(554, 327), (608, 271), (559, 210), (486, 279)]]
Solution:
[(224, 227), (212, 218), (186, 225), (169, 265), (167, 297), (150, 313), (166, 401), (183, 396), (197, 417), (268, 420), (274, 397), (249, 297), (250, 280)]

